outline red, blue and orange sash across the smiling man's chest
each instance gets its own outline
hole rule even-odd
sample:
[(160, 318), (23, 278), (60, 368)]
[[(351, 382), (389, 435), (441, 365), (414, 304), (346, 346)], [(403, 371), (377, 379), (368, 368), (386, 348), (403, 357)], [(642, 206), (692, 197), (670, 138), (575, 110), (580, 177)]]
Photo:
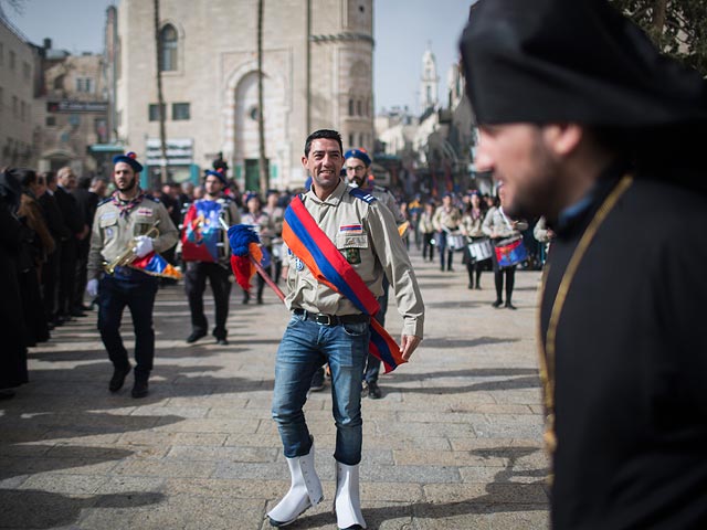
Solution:
[(386, 373), (408, 362), (400, 348), (372, 317), (380, 306), (356, 269), (346, 261), (312, 218), (304, 202), (296, 197), (285, 211), (283, 240), (289, 250), (309, 268), (320, 282), (348, 298), (361, 312), (371, 317), (369, 352), (381, 360)]

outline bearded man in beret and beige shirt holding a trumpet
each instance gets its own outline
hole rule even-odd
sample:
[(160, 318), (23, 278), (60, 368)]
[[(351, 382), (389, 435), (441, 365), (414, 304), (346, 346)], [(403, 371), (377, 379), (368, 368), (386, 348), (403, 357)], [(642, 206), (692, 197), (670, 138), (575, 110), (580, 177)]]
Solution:
[[(169, 213), (157, 199), (145, 194), (138, 186), (143, 166), (135, 153), (114, 157), (113, 178), (116, 191), (98, 204), (93, 223), (86, 290), (94, 298), (98, 295), (98, 330), (113, 362), (110, 392), (123, 388), (130, 372), (128, 352), (120, 338), (120, 318), (125, 306), (130, 308), (135, 329), (135, 385), (133, 398), (145, 398), (155, 358), (155, 330), (152, 307), (158, 279), (127, 266), (115, 267), (113, 273), (103, 271), (127, 250), (137, 257), (150, 252), (163, 252), (177, 243), (178, 232)], [(152, 231), (158, 226), (159, 235)]]

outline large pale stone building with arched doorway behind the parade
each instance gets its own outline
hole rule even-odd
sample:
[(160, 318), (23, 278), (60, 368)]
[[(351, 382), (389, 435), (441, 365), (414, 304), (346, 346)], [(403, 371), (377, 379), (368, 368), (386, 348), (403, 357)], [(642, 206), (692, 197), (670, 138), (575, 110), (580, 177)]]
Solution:
[[(117, 140), (159, 168), (161, 54), (169, 178), (198, 180), (218, 152), (242, 190), (258, 189), (257, 0), (122, 0)], [(304, 140), (318, 128), (373, 147), (372, 0), (264, 2), (263, 117), (271, 188), (305, 179)], [(146, 182), (144, 181), (144, 184)], [(154, 183), (154, 180), (150, 182)]]

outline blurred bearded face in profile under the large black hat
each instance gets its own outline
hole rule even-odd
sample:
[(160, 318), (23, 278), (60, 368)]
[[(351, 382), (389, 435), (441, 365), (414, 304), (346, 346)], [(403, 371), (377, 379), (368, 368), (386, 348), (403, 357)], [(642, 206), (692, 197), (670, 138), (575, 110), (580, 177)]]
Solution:
[(558, 161), (548, 148), (544, 127), (531, 124), (479, 128), (476, 168), (492, 171), (504, 184), (504, 210), (513, 218), (553, 215)]

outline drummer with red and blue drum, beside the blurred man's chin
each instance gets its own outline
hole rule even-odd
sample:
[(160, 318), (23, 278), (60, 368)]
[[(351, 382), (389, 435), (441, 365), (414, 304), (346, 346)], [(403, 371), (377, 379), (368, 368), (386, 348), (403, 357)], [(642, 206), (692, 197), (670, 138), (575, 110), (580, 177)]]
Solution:
[[(488, 235), (494, 245), (498, 245), (502, 240), (508, 237), (520, 236), (520, 232), (528, 229), (528, 223), (525, 221), (514, 221), (504, 213), (504, 197), (506, 192), (503, 184), (498, 187), (498, 205), (492, 206), (486, 213), (484, 223), (482, 224), (482, 231)], [(513, 297), (513, 287), (516, 280), (516, 266), (510, 265), (507, 267), (500, 267), (496, 254), (492, 256), (494, 264), (494, 283), (496, 284), (496, 301), (492, 304), (493, 307), (498, 309), (504, 303), (502, 293), (504, 290), (504, 276), (506, 276), (506, 304), (508, 309), (516, 309), (516, 306), (510, 301)]]

